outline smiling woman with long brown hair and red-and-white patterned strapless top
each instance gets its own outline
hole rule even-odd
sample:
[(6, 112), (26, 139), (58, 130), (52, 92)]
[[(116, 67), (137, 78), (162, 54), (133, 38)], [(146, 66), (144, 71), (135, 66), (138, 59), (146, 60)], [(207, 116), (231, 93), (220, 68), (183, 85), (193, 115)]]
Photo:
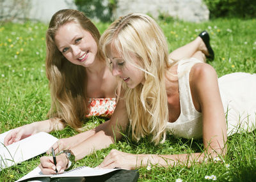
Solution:
[[(197, 50), (214, 57), (209, 36), (200, 34), (193, 42), (173, 51), (172, 59), (191, 57)], [(62, 130), (66, 125), (83, 130), (88, 116), (110, 118), (120, 90), (118, 79), (112, 75), (99, 50), (100, 33), (97, 27), (77, 10), (60, 10), (51, 19), (46, 33), (46, 73), (51, 89), (49, 118), (15, 128), (4, 140), (7, 146), (38, 132)], [(81, 142), (95, 130), (76, 137), (61, 139), (54, 144), (56, 153)]]

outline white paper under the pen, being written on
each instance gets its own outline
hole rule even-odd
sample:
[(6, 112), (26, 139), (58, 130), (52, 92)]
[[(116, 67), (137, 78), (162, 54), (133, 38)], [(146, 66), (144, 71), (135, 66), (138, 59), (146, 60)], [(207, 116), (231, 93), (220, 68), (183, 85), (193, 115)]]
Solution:
[(19, 180), (15, 182), (19, 182), (29, 178), (42, 178), (42, 177), (49, 177), (49, 178), (60, 178), (60, 177), (84, 177), (84, 176), (100, 176), (103, 174), (107, 174), (112, 171), (116, 171), (119, 169), (95, 169), (91, 167), (77, 167), (76, 169), (72, 169), (71, 171), (65, 171), (62, 174), (51, 174), (45, 175), (42, 174), (39, 167), (36, 167), (33, 171), (29, 172)]

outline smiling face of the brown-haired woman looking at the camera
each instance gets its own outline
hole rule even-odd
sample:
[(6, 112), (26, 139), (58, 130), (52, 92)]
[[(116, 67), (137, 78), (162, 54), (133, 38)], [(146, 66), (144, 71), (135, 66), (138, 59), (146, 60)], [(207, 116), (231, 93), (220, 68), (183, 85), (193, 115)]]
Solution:
[(92, 34), (75, 22), (68, 22), (58, 29), (55, 43), (73, 64), (89, 67), (97, 55), (98, 47)]

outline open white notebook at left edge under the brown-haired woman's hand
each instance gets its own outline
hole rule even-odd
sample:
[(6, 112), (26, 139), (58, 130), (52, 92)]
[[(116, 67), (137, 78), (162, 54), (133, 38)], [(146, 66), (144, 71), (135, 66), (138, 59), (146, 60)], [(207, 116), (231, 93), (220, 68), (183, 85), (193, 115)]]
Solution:
[(8, 132), (0, 134), (0, 171), (45, 153), (58, 140), (49, 133), (40, 132), (9, 146), (4, 146), (4, 137)]

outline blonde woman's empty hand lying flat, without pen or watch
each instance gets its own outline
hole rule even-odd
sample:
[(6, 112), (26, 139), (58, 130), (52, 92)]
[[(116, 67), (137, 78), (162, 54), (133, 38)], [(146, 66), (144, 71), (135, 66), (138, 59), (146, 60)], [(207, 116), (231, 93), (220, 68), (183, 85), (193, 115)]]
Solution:
[(115, 167), (122, 169), (135, 169), (137, 167), (137, 162), (140, 163), (138, 155), (112, 149), (98, 167), (109, 169), (114, 169)]

